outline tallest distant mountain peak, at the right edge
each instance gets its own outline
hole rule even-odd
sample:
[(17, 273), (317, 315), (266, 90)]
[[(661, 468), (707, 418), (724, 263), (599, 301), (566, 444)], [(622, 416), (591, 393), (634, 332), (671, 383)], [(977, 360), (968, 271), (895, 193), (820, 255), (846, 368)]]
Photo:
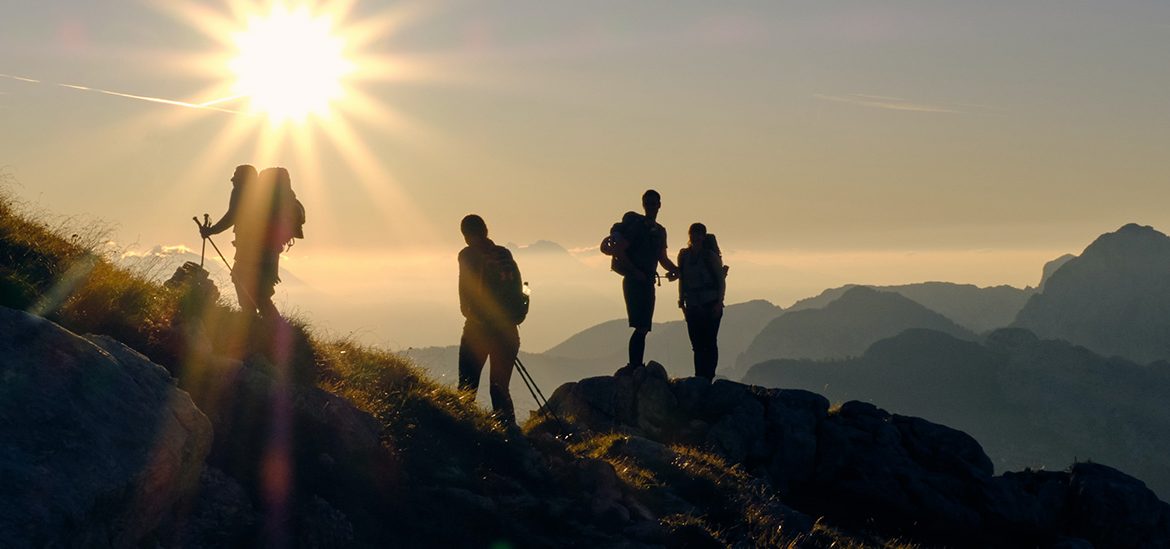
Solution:
[(1126, 225), (1052, 273), (1012, 324), (1102, 355), (1170, 359), (1170, 238)]

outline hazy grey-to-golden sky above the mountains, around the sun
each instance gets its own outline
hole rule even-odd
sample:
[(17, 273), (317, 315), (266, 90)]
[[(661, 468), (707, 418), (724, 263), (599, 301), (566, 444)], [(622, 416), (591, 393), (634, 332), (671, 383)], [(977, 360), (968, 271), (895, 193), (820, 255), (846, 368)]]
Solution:
[[(16, 194), (197, 247), (190, 218), (222, 212), (235, 164), (285, 165), (311, 262), (453, 254), (468, 212), (500, 241), (592, 248), (654, 187), (672, 253), (702, 220), (825, 286), (1034, 284), (1102, 232), (1170, 226), (1165, 0), (331, 2), (379, 64), (301, 147), (142, 98), (222, 97), (221, 40), (267, 12), (234, 4), (8, 0), (0, 74), (40, 81), (0, 77)], [(799, 297), (776, 273), (760, 297)]]

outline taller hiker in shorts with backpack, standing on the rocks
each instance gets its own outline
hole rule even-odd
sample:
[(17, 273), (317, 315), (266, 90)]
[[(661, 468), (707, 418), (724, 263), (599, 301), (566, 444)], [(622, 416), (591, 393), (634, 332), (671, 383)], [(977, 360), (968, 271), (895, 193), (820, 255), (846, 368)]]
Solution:
[(615, 375), (632, 373), (645, 365), (646, 334), (654, 321), (654, 282), (658, 266), (666, 269), (667, 280), (677, 277), (677, 267), (666, 255), (666, 228), (655, 221), (662, 207), (658, 191), (642, 193), (645, 215), (627, 212), (613, 226), (603, 243), (603, 252), (613, 255), (613, 270), (621, 275), (621, 293), (626, 298), (626, 316), (634, 329), (629, 336), (629, 362)]

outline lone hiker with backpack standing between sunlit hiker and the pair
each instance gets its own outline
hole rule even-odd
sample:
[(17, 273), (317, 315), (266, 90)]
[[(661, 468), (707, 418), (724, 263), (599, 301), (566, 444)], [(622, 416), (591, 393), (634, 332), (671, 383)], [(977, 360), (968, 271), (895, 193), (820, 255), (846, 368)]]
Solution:
[(459, 253), (459, 308), (467, 318), (459, 341), (459, 389), (475, 393), (483, 363), (491, 361), (488, 393), (491, 410), (505, 425), (516, 423), (508, 385), (519, 354), (516, 325), (528, 314), (523, 281), (511, 252), (488, 238), (483, 218), (470, 214), (460, 222), (467, 247)]

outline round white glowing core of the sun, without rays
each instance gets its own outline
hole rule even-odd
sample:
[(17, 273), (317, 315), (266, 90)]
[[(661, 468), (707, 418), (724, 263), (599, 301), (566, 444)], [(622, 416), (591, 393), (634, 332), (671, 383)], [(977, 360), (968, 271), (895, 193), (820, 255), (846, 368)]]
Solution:
[(307, 7), (275, 6), (266, 16), (250, 16), (233, 42), (233, 92), (274, 123), (328, 117), (330, 104), (344, 96), (343, 80), (355, 70), (332, 20)]

